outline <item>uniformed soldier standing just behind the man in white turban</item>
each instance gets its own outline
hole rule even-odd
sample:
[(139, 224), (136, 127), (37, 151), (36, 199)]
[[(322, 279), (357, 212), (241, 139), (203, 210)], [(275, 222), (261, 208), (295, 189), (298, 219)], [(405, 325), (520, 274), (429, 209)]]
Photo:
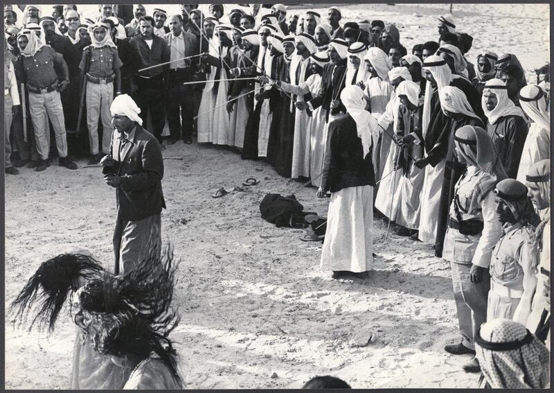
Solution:
[[(104, 155), (109, 154), (111, 132), (111, 114), (109, 107), (114, 101), (114, 82), (116, 95), (121, 94), (120, 67), (117, 46), (111, 40), (109, 26), (96, 22), (89, 27), (91, 44), (84, 49), (79, 69), (87, 78), (87, 125), (91, 159), (89, 164), (98, 164)], [(102, 119), (102, 146), (98, 147), (98, 116)]]

